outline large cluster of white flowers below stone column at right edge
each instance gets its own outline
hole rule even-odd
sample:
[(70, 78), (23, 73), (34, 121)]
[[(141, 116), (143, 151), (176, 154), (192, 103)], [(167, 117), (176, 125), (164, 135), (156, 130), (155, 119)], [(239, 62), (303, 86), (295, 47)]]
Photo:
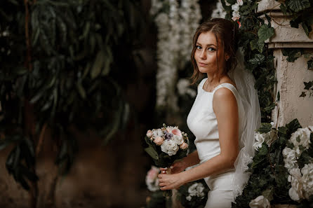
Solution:
[(288, 193), (292, 200), (309, 199), (313, 194), (313, 163), (305, 164), (300, 170), (298, 167), (298, 158), (303, 151), (310, 148), (310, 134), (313, 132), (313, 126), (299, 128), (291, 134), (289, 141), (294, 148), (284, 148), (285, 167), (289, 172), (288, 181), (291, 182), (291, 188)]

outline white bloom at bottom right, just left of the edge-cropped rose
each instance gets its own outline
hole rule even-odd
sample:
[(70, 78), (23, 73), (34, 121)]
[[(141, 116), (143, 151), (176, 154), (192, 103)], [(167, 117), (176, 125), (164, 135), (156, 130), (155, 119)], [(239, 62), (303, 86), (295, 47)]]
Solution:
[(288, 181), (291, 182), (291, 188), (288, 193), (292, 200), (298, 201), (304, 198), (302, 175), (298, 167), (291, 169), (289, 173), (291, 175), (288, 176)]

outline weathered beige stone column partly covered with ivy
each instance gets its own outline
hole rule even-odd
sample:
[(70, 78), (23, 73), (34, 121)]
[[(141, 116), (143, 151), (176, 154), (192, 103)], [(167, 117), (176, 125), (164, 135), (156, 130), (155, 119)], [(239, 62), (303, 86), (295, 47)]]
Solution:
[[(294, 118), (298, 118), (302, 127), (313, 125), (313, 97), (300, 97), (305, 91), (303, 82), (313, 80), (313, 71), (307, 69), (307, 61), (301, 56), (295, 62), (288, 62), (282, 54), (284, 48), (303, 48), (306, 52), (313, 53), (313, 32), (309, 37), (301, 25), (293, 28), (289, 25), (291, 18), (281, 13), (279, 2), (262, 0), (258, 6), (259, 13), (267, 13), (272, 18), (271, 25), (275, 34), (267, 40), (269, 48), (274, 49), (274, 65), (277, 73), (275, 86), (276, 99), (280, 94), (280, 101), (272, 111), (272, 120), (278, 126), (286, 125)], [(266, 18), (263, 15), (265, 21)]]

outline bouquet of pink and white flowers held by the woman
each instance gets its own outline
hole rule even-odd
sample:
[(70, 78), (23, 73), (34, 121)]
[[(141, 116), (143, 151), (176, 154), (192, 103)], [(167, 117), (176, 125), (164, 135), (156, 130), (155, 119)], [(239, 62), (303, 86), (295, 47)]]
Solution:
[[(145, 141), (148, 144), (145, 151), (154, 160), (156, 167), (170, 167), (175, 160), (180, 160), (187, 155), (188, 137), (178, 127), (164, 124), (159, 129), (148, 130)], [(171, 196), (172, 191), (164, 190), (163, 195)]]

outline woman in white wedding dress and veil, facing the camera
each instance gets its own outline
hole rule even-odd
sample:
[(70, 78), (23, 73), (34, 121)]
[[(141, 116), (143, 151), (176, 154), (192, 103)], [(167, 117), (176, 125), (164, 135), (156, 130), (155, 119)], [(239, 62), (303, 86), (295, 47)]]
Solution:
[[(210, 188), (205, 208), (232, 207), (242, 193), (249, 177), (247, 165), (254, 155), (254, 130), (260, 125), (255, 81), (244, 69), (237, 42), (237, 29), (229, 20), (215, 18), (198, 27), (193, 39), (192, 78), (194, 83), (201, 74), (207, 78), (199, 83), (187, 118), (197, 151), (175, 162), (171, 174), (166, 174), (167, 168), (159, 174), (161, 190), (205, 179)], [(183, 171), (193, 165), (197, 166)]]

